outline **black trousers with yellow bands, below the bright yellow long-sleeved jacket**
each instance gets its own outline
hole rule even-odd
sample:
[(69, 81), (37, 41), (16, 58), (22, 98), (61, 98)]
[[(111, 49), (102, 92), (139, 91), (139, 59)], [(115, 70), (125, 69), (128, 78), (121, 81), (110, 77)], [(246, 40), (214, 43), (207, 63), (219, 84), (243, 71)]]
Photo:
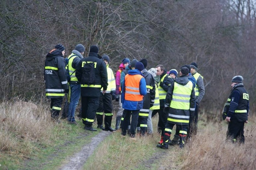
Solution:
[(103, 112), (105, 113), (105, 127), (111, 126), (112, 121), (112, 95), (110, 93), (100, 94), (99, 107), (96, 111), (97, 124), (102, 125), (103, 123)]

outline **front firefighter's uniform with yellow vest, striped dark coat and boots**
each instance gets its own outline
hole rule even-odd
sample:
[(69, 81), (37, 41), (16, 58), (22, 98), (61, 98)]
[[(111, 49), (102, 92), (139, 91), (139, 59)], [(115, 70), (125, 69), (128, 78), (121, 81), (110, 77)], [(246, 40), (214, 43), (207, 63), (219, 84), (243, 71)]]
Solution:
[(169, 114), (164, 130), (163, 144), (159, 144), (157, 147), (168, 148), (172, 128), (176, 124), (179, 126), (179, 147), (183, 148), (185, 137), (187, 136), (190, 112), (195, 111), (194, 87), (186, 75), (182, 75), (172, 83), (166, 95), (165, 109), (168, 110)]

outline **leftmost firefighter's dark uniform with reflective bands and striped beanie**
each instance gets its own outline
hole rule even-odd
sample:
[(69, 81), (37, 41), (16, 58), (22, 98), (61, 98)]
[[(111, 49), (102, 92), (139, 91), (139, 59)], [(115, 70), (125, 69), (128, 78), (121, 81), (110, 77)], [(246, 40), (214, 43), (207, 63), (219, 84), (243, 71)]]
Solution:
[(47, 54), (44, 66), (46, 97), (51, 99), (51, 117), (55, 120), (59, 117), (64, 90), (69, 89), (66, 76), (66, 62), (62, 51), (56, 47), (61, 47), (62, 51), (65, 50), (62, 45), (56, 45), (55, 49)]

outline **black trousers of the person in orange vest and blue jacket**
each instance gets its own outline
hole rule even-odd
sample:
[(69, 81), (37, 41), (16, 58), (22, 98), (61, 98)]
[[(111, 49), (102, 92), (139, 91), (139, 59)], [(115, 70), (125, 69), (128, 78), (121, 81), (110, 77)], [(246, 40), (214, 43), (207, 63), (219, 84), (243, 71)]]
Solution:
[(139, 110), (133, 110), (133, 111), (126, 110), (126, 109), (124, 110), (125, 110), (125, 116), (123, 118), (123, 124), (122, 124), (122, 135), (126, 135), (130, 117), (132, 115), (130, 137), (135, 137), (136, 127), (137, 127), (138, 118), (139, 118)]

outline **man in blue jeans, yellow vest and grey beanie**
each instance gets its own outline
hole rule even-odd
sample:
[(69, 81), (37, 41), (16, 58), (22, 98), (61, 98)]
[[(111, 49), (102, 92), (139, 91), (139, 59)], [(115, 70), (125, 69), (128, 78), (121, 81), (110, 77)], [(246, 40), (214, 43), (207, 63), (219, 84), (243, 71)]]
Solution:
[(69, 102), (68, 122), (70, 124), (75, 124), (75, 125), (77, 125), (77, 122), (75, 121), (75, 109), (78, 105), (80, 95), (81, 95), (81, 85), (78, 79), (76, 78), (76, 68), (80, 60), (84, 58), (83, 57), (84, 51), (85, 51), (84, 45), (78, 44), (75, 46), (75, 50), (73, 50), (68, 57), (68, 60), (69, 60), (68, 68), (69, 68), (69, 75), (70, 75), (70, 82), (69, 82), (70, 102)]

